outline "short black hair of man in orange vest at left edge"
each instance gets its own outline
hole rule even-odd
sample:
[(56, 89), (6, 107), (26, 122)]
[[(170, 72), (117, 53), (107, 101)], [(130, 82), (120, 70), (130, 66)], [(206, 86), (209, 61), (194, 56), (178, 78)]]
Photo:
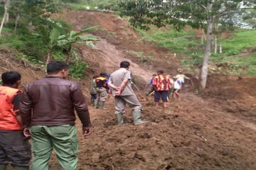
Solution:
[(21, 75), (17, 71), (6, 71), (2, 74), (3, 85), (14, 85), (21, 79)]

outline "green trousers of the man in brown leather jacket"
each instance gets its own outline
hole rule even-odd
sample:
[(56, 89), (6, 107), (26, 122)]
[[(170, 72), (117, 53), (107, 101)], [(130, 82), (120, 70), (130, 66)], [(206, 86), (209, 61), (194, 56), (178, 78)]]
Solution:
[(49, 170), (52, 149), (61, 170), (77, 169), (78, 140), (75, 125), (32, 126), (32, 170)]

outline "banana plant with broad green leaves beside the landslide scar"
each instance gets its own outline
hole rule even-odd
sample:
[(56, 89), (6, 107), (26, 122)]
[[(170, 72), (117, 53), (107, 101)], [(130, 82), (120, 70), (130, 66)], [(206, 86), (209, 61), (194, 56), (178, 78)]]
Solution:
[(86, 28), (82, 31), (76, 32), (71, 31), (69, 34), (64, 34), (58, 37), (57, 45), (61, 48), (67, 50), (67, 59), (66, 62), (69, 62), (71, 58), (71, 52), (73, 49), (73, 45), (76, 43), (84, 43), (87, 41), (99, 41), (99, 39), (92, 35), (82, 35), (84, 33), (88, 33), (89, 31), (95, 29), (97, 26), (92, 26)]

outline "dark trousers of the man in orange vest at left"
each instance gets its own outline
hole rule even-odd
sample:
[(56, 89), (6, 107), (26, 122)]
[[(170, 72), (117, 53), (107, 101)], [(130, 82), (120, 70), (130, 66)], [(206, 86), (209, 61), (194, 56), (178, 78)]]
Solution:
[(22, 130), (0, 130), (0, 165), (29, 166), (31, 146)]

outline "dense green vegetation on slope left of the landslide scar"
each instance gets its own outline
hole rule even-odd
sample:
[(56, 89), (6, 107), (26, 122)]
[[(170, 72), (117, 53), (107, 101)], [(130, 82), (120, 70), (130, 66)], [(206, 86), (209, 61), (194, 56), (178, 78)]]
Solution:
[[(73, 3), (76, 1), (73, 0)], [(0, 9), (3, 9), (3, 5), (0, 3)], [(0, 48), (16, 51), (17, 59), (43, 69), (49, 60), (67, 61), (72, 77), (82, 78), (87, 63), (76, 54), (73, 44), (88, 42), (88, 46), (93, 46), (90, 41), (97, 40), (96, 37), (81, 34), (95, 27), (75, 32), (71, 31), (72, 26), (68, 23), (49, 19), (49, 14), (57, 12), (59, 8), (61, 4), (57, 0), (11, 1), (9, 21), (4, 24)], [(3, 15), (4, 10), (0, 11)]]

